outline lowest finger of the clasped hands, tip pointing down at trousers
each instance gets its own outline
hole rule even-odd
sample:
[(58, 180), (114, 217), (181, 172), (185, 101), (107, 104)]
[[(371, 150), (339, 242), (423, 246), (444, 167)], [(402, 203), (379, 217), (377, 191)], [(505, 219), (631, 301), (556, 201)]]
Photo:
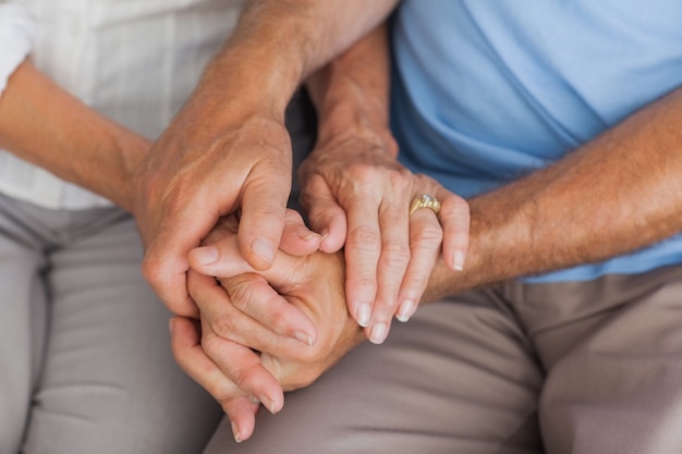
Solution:
[(178, 364), (221, 403), (232, 422), (235, 440), (239, 442), (249, 438), (255, 426), (257, 405), (202, 349), (198, 328), (192, 320), (175, 317), (170, 320), (170, 331), (171, 348)]

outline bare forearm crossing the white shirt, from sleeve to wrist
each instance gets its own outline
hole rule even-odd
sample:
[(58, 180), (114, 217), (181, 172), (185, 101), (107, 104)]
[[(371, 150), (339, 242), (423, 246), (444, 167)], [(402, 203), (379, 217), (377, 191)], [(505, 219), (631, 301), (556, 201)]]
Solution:
[(0, 147), (131, 208), (130, 176), (150, 143), (100, 115), (28, 61), (0, 97)]

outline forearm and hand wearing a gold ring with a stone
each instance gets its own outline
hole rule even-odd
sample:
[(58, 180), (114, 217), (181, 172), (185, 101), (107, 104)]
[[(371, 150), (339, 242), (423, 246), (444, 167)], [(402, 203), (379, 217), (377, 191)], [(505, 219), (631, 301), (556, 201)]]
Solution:
[[(393, 315), (406, 320), (416, 309), (441, 237), (452, 269), (461, 268), (468, 240), (466, 203), (397, 160), (388, 120), (387, 28), (378, 27), (308, 81), (319, 132), (300, 171), (302, 203), (325, 238), (322, 250), (345, 244), (349, 311), (375, 343), (388, 334)], [(442, 203), (439, 217), (423, 210), (409, 218), (407, 207), (421, 194)]]

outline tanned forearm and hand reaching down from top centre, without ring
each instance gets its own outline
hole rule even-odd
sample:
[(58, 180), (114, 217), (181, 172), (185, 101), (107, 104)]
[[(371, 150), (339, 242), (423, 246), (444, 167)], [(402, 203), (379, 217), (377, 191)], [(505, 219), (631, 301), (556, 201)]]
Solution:
[[(147, 245), (143, 271), (171, 310), (191, 311), (187, 254), (226, 213), (241, 210), (243, 257), (256, 269), (271, 265), (291, 186), (285, 106), (308, 74), (381, 22), (394, 3), (248, 3), (136, 176)], [(207, 256), (202, 261), (210, 262)]]

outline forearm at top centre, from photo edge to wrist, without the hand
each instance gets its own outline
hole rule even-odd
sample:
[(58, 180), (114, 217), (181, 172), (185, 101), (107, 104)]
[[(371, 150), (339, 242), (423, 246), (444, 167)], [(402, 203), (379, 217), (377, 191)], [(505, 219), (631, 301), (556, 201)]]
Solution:
[[(208, 65), (191, 106), (215, 114), (266, 109), (283, 116), (299, 85), (382, 22), (395, 3), (251, 1), (226, 47)], [(224, 102), (226, 98), (232, 102)]]

